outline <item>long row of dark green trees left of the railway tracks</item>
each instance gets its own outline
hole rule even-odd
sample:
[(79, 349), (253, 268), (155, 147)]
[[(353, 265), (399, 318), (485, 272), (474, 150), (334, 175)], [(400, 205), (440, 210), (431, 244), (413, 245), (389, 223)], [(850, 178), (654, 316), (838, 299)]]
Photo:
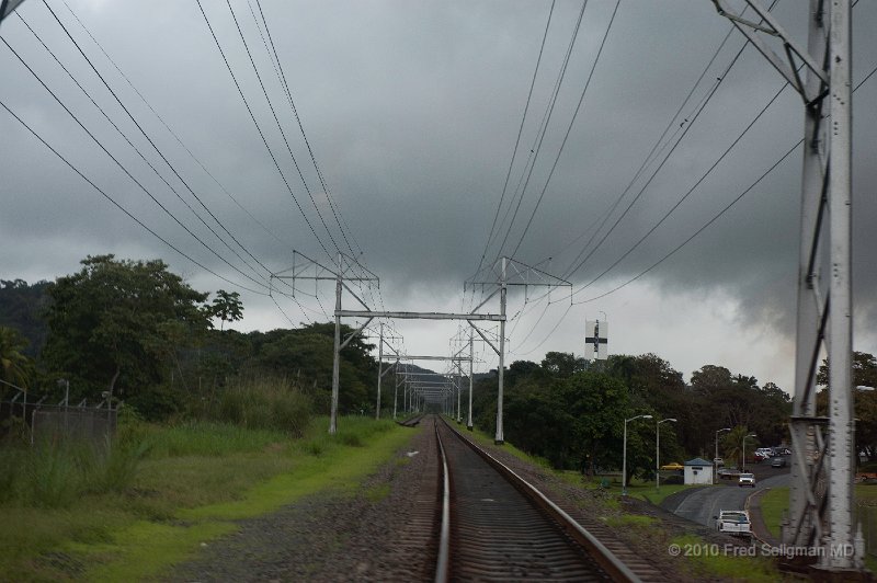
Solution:
[[(197, 414), (244, 377), (274, 377), (328, 411), (333, 323), (226, 330), (243, 317), (239, 295), (220, 289), (210, 299), (160, 260), (89, 256), (52, 283), (2, 282), (0, 307), (0, 380), (32, 395), (60, 398), (57, 381), (66, 379), (71, 402), (106, 396), (162, 420)], [(374, 407), (371, 348), (360, 335), (342, 351), (342, 413)], [(10, 395), (10, 385), (0, 385), (0, 395)]]

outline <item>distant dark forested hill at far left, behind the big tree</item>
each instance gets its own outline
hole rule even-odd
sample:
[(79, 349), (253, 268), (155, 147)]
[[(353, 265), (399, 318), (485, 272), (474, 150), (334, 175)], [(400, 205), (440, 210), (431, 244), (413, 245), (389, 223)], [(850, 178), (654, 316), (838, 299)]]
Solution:
[(23, 279), (0, 279), (0, 327), (12, 328), (27, 339), (24, 354), (35, 357), (46, 343), (48, 327), (42, 317), (48, 282), (29, 285)]

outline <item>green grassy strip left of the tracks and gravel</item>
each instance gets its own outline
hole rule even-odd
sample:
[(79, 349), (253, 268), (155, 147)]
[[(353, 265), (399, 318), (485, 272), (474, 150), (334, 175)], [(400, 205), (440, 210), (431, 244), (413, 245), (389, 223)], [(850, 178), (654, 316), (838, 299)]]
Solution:
[(110, 456), (4, 449), (0, 473), (18, 479), (0, 484), (0, 573), (13, 581), (150, 578), (234, 531), (236, 519), (328, 488), (356, 492), (411, 436), (388, 421), (342, 418), (333, 436), (328, 424), (314, 419), (296, 438), (229, 423), (136, 423)]

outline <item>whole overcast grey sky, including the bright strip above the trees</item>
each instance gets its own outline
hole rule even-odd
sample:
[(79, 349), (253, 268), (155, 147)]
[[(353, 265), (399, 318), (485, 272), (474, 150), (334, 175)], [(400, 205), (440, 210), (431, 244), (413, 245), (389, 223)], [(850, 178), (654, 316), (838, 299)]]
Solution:
[[(0, 108), (0, 277), (54, 279), (89, 254), (162, 258), (200, 290), (238, 290), (235, 328), (270, 330), (334, 306), (331, 283), (298, 281), (295, 300), (270, 283), (301, 265), (293, 250), (327, 266), (338, 249), (355, 255), (380, 278), (354, 287), (372, 309), (449, 312), (480, 304), (490, 286), (464, 282), (496, 281), (508, 255), (571, 286), (512, 288), (506, 364), (582, 355), (584, 322), (600, 318), (611, 354), (791, 390), (800, 149), (748, 188), (802, 137), (802, 103), (751, 46), (736, 58), (744, 39), (711, 2), (591, 0), (576, 34), (571, 0), (260, 1), (202, 0), (205, 20), (196, 0), (26, 0), (3, 21), (64, 106), (5, 45), (0, 101), (106, 197)], [(806, 2), (774, 13), (806, 46)], [(859, 2), (854, 83), (877, 67), (875, 30), (877, 5)], [(877, 76), (854, 96), (854, 345), (870, 353), (876, 101)], [(343, 307), (358, 309), (346, 293)], [(408, 354), (447, 354), (459, 330), (391, 325)], [(476, 352), (478, 369), (496, 368)]]

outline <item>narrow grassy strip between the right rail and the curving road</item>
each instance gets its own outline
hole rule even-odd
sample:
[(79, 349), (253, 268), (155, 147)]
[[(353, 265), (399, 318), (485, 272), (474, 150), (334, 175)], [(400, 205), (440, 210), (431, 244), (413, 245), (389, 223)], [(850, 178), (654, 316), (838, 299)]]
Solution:
[[(459, 426), (457, 426), (459, 428)], [(465, 432), (465, 426), (463, 427)], [(480, 444), (492, 445), (493, 435), (474, 431), (470, 435)], [(610, 526), (624, 530), (630, 538), (659, 541), (658, 545), (670, 552), (671, 545), (677, 545), (683, 553), (688, 553), (680, 559), (680, 569), (685, 574), (695, 579), (722, 578), (741, 580), (745, 573), (745, 581), (773, 582), (782, 578), (775, 564), (764, 557), (734, 557), (727, 555), (724, 548), (716, 548), (698, 536), (674, 536), (663, 528), (661, 522), (652, 516), (636, 513), (630, 507), (620, 503), (620, 480), (611, 481), (604, 487), (601, 480), (588, 480), (576, 471), (559, 471), (542, 458), (536, 458), (515, 448), (505, 442), (503, 450), (529, 464), (542, 467), (546, 472), (553, 473), (567, 483), (591, 491), (594, 495), (588, 499), (586, 504), (592, 511)], [(661, 485), (656, 492), (654, 482), (634, 480), (628, 484), (628, 495), (640, 500), (659, 503), (665, 496), (684, 488), (681, 484)], [(584, 504), (584, 502), (582, 502)]]

